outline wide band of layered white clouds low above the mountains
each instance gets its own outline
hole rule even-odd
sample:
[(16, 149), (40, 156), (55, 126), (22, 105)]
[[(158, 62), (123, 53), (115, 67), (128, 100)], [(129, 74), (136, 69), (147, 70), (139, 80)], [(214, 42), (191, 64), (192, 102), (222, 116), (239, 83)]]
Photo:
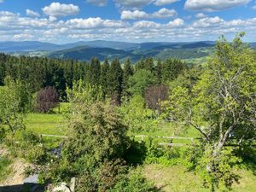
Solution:
[[(152, 15), (152, 14), (150, 14)], [(140, 21), (108, 20), (100, 17), (59, 19), (27, 17), (0, 11), (1, 40), (39, 40), (65, 43), (77, 40), (105, 39), (117, 41), (193, 41), (217, 39), (220, 34), (234, 37), (247, 32), (256, 38), (256, 17), (244, 20), (224, 20), (205, 16), (191, 22), (177, 18), (169, 22), (143, 19)], [(37, 35), (35, 35), (37, 34)]]

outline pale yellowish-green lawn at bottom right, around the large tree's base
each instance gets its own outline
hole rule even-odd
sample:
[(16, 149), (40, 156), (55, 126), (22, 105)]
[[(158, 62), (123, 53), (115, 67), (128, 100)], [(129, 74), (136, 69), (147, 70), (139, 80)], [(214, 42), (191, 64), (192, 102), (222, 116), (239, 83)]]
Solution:
[[(202, 180), (194, 172), (188, 172), (184, 166), (146, 165), (143, 168), (144, 176), (166, 192), (210, 192), (202, 187)], [(239, 183), (234, 183), (233, 192), (256, 191), (256, 176), (250, 170), (237, 171), (241, 176)], [(221, 191), (221, 190), (217, 190)]]

